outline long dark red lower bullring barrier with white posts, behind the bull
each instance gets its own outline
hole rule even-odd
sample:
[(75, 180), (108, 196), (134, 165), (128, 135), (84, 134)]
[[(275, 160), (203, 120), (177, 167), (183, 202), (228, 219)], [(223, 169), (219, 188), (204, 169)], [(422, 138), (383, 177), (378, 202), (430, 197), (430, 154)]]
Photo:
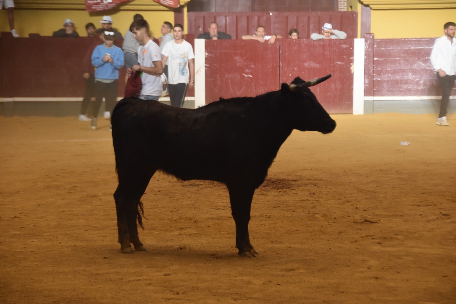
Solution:
[[(279, 89), (280, 83), (290, 83), (296, 76), (308, 80), (329, 73), (332, 79), (312, 91), (333, 114), (435, 113), (440, 105), (440, 88), (429, 60), (435, 38), (374, 39), (368, 34), (365, 39), (281, 39), (269, 45), (193, 37), (186, 38), (197, 56), (196, 91), (188, 92), (186, 107), (219, 97), (255, 96)], [(0, 115), (79, 114), (82, 61), (92, 43), (90, 38), (12, 38), (9, 32), (1, 33)], [(119, 99), (123, 75), (124, 69)], [(455, 110), (452, 96), (449, 112)]]

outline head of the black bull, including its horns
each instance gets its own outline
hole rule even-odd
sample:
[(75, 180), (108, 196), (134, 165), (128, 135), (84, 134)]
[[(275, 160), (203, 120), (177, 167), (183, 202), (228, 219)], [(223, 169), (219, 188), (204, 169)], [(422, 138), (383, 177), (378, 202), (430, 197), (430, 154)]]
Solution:
[(329, 116), (309, 89), (329, 78), (331, 78), (331, 74), (310, 81), (296, 77), (290, 85), (282, 84), (281, 91), (291, 105), (289, 117), (294, 129), (319, 131), (323, 134), (334, 131), (336, 121)]

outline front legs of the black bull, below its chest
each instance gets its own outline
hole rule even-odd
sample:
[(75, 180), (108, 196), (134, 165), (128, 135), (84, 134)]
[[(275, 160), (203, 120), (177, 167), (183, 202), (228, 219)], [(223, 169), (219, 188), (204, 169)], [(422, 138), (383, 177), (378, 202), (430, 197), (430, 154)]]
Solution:
[(228, 191), (231, 212), (236, 223), (236, 248), (239, 250), (239, 256), (256, 257), (258, 251), (250, 244), (249, 238), (250, 206), (252, 205), (255, 189), (228, 186)]

